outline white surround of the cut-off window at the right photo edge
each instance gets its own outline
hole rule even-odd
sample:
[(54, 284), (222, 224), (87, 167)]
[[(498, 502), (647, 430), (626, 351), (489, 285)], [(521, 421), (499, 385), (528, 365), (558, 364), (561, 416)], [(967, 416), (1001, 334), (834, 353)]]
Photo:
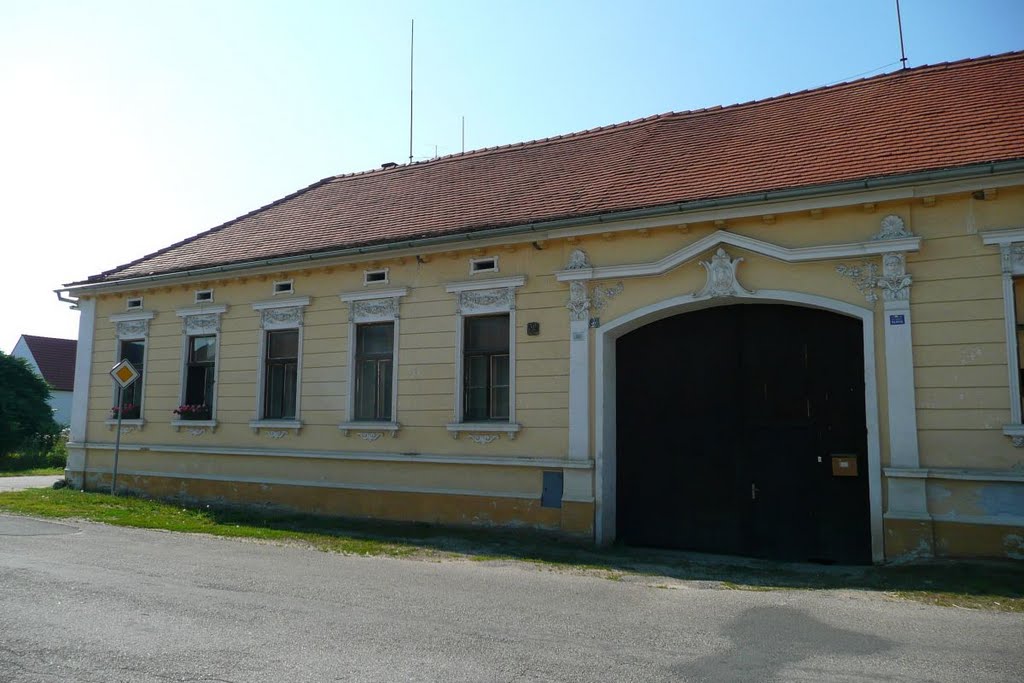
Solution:
[(1007, 334), (1007, 373), (1010, 386), (1010, 424), (1002, 433), (1018, 449), (1024, 447), (1024, 424), (1021, 417), (1021, 386), (1018, 372), (1017, 307), (1014, 301), (1014, 280), (1024, 278), (1024, 227), (983, 230), (978, 233), (984, 245), (999, 248), (1002, 273), (1002, 317)]

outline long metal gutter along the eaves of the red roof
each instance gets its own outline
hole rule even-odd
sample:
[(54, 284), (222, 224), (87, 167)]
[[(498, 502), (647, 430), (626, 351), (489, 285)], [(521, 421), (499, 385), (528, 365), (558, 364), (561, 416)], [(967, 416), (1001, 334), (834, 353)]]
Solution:
[(991, 162), (987, 164), (976, 164), (973, 166), (962, 166), (952, 169), (940, 169), (936, 171), (923, 171), (905, 175), (882, 176), (867, 178), (864, 180), (853, 180), (831, 183), (826, 185), (811, 185), (806, 187), (796, 187), (793, 189), (777, 189), (753, 195), (736, 195), (733, 197), (717, 198), (711, 200), (697, 200), (694, 202), (682, 202), (667, 204), (643, 209), (631, 209), (629, 211), (618, 211), (614, 213), (600, 214), (597, 216), (579, 216), (572, 218), (559, 218), (556, 220), (542, 221), (539, 223), (520, 223), (505, 227), (476, 230), (473, 232), (457, 232), (453, 234), (438, 236), (435, 238), (420, 238), (417, 240), (406, 240), (401, 242), (389, 242), (382, 245), (369, 247), (352, 247), (348, 249), (334, 249), (331, 251), (316, 252), (312, 254), (296, 254), (291, 256), (279, 256), (258, 261), (245, 261), (242, 263), (228, 263), (224, 265), (208, 266), (190, 270), (175, 270), (154, 275), (140, 275), (136, 278), (126, 278), (123, 280), (113, 280), (110, 282), (82, 282), (73, 283), (62, 289), (54, 290), (57, 299), (69, 303), (77, 303), (74, 300), (60, 296), (61, 292), (87, 292), (94, 289), (106, 289), (113, 287), (138, 287), (150, 283), (161, 283), (167, 280), (178, 280), (181, 278), (208, 278), (217, 273), (233, 272), (238, 270), (249, 270), (258, 267), (278, 267), (285, 265), (295, 265), (319, 261), (331, 258), (345, 256), (360, 256), (371, 254), (382, 254), (396, 250), (413, 250), (424, 247), (438, 247), (459, 242), (472, 242), (474, 240), (489, 240), (494, 238), (521, 236), (530, 232), (541, 232), (564, 227), (579, 227), (581, 225), (601, 225), (604, 223), (622, 222), (626, 220), (636, 220), (640, 218), (656, 218), (673, 214), (683, 215), (690, 211), (708, 209), (723, 209), (750, 204), (760, 204), (766, 202), (777, 202), (783, 200), (807, 199), (809, 197), (823, 197), (827, 195), (842, 195), (866, 189), (885, 189), (898, 187), (901, 185), (914, 184), (921, 182), (941, 182), (949, 180), (961, 180), (965, 178), (983, 178), (987, 176), (1000, 175), (1005, 173), (1024, 171), (1024, 159), (1016, 159), (1005, 162)]

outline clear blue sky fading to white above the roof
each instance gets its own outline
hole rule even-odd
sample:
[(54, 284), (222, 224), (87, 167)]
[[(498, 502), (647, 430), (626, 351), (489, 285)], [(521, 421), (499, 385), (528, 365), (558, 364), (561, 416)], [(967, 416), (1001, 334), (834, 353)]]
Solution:
[[(909, 66), (1024, 48), (1024, 0), (903, 0)], [(0, 349), (50, 290), (322, 177), (898, 68), (895, 0), (0, 0)]]

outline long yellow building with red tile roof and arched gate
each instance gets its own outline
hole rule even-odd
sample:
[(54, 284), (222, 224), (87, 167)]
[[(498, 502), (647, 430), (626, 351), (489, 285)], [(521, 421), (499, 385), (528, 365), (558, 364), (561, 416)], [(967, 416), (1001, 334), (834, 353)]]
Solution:
[(388, 164), (66, 286), (67, 474), (120, 410), (154, 496), (1021, 558), (1019, 276), (1022, 52)]

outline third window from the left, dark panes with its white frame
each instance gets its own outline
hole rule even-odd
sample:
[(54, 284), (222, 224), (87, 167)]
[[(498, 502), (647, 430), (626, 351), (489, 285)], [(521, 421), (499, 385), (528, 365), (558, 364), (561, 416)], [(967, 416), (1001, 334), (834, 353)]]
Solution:
[(256, 419), (249, 423), (255, 431), (301, 426), (302, 318), (307, 305), (309, 297), (253, 304), (260, 313)]

